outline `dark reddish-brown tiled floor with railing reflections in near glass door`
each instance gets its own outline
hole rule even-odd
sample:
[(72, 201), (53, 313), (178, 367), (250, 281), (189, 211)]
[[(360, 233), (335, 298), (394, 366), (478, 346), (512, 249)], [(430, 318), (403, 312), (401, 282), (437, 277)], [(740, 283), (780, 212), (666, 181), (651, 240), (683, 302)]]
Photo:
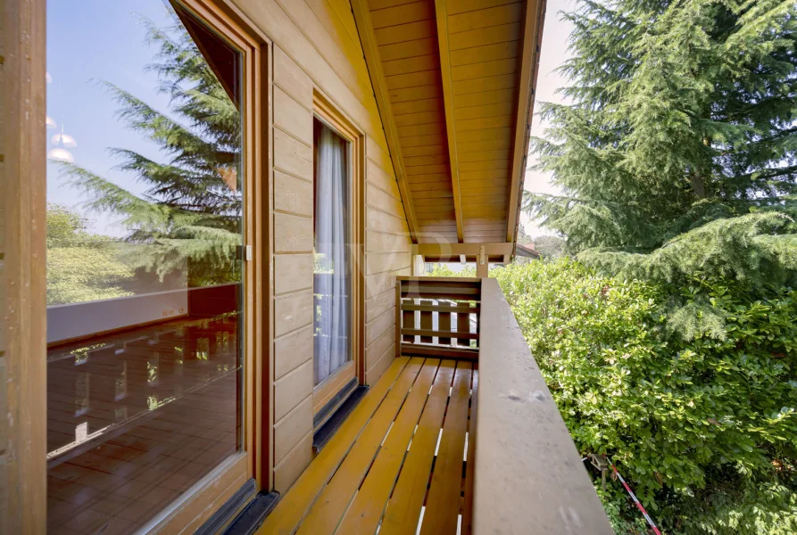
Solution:
[(136, 531), (237, 451), (236, 330), (178, 320), (49, 351), (50, 533)]

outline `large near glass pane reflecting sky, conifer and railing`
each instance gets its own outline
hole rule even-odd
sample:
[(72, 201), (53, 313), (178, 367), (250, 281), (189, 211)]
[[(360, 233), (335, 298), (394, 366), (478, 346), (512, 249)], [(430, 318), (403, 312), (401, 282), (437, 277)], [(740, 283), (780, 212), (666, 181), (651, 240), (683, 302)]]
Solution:
[(241, 448), (240, 69), (177, 4), (47, 3), (52, 533), (137, 531)]

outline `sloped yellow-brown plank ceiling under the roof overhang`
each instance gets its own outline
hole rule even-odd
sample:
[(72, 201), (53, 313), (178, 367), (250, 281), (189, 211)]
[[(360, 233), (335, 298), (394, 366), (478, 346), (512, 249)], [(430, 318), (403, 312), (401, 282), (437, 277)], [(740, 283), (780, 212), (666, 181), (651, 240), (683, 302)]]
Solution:
[(352, 0), (415, 243), (514, 242), (544, 0)]

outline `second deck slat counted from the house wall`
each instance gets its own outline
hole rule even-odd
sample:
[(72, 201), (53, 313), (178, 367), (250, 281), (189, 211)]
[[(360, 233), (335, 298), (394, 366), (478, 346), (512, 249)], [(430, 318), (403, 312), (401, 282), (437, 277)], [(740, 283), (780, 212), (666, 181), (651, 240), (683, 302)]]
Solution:
[[(368, 472), (371, 462), (377, 455), (379, 445), (382, 440), (385, 440), (390, 425), (393, 424), (396, 415), (402, 409), (408, 392), (411, 388), (413, 391), (419, 389), (423, 392), (428, 391), (435, 374), (434, 370), (424, 370), (423, 363), (423, 358), (412, 358), (404, 368), (403, 373), (363, 429), (361, 436), (354, 443), (335, 476), (320, 493), (310, 513), (303, 520), (298, 533), (321, 535), (335, 532), (337, 524), (345, 514), (346, 507), (351, 503), (363, 476)], [(416, 378), (419, 384), (417, 384), (417, 388), (413, 388), (416, 386)], [(426, 390), (423, 390), (424, 385)], [(419, 403), (422, 399), (419, 401), (419, 396), (416, 394), (413, 401)]]

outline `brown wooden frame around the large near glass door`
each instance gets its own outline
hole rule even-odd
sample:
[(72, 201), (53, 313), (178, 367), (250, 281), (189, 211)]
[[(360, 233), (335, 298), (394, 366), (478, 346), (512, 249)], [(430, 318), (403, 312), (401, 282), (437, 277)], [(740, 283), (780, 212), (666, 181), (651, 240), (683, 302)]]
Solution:
[[(228, 457), (145, 525), (150, 532), (193, 532), (228, 498), (254, 479), (256, 490), (273, 488), (273, 364), (269, 342), (272, 289), (269, 276), (273, 229), (264, 214), (271, 202), (271, 109), (273, 43), (230, 0), (176, 0), (198, 21), (242, 53), (245, 169), (243, 450)], [(4, 96), (0, 173), (4, 183), (5, 309), (14, 309), (0, 328), (8, 382), (4, 428), (5, 485), (9, 532), (46, 532), (46, 0), (8, 0), (0, 5)], [(23, 38), (23, 36), (26, 36)], [(32, 224), (31, 224), (32, 222)], [(4, 293), (4, 295), (3, 295)], [(0, 337), (2, 339), (2, 337)], [(3, 395), (3, 392), (0, 392)], [(5, 418), (5, 416), (4, 416)], [(5, 425), (4, 422), (0, 423)]]

